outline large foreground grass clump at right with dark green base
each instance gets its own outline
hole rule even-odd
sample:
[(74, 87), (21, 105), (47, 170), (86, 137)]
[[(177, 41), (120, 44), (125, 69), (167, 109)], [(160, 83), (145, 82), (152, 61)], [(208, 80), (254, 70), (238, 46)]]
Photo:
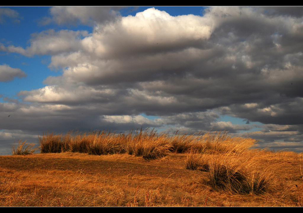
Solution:
[(224, 154), (208, 162), (208, 176), (214, 189), (239, 194), (269, 194), (272, 175), (258, 170), (253, 158), (240, 154)]

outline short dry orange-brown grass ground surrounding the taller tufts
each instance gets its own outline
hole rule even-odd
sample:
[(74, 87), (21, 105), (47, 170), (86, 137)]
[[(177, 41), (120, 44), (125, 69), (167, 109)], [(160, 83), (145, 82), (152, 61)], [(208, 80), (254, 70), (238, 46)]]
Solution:
[[(215, 159), (221, 154), (198, 155)], [(246, 155), (248, 156), (248, 155)], [(185, 169), (188, 153), (39, 153), (0, 156), (0, 206), (302, 206), (302, 155), (250, 151), (268, 171), (266, 193), (214, 188), (208, 170)]]

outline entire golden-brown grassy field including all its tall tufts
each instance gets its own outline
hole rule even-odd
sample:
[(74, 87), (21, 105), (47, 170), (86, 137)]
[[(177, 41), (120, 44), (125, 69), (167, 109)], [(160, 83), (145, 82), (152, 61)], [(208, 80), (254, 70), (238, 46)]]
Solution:
[[(303, 154), (226, 133), (47, 133), (0, 156), (0, 206), (302, 206)], [(301, 165), (302, 164), (302, 165)]]

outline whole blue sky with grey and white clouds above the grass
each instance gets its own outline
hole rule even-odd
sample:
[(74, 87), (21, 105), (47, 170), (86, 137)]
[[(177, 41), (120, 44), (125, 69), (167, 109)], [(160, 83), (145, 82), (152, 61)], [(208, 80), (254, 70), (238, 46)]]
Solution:
[(69, 130), (303, 152), (303, 7), (0, 7), (0, 154)]

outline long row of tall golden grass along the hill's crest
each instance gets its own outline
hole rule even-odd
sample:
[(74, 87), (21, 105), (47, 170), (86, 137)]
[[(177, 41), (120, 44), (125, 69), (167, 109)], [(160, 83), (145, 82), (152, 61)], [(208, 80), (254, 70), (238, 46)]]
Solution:
[(146, 160), (164, 157), (168, 152), (186, 153), (242, 153), (256, 143), (244, 137), (231, 137), (227, 132), (206, 132), (198, 134), (157, 133), (154, 129), (129, 131), (116, 134), (111, 131), (90, 131), (67, 134), (47, 133), (38, 136), (41, 153), (65, 151), (104, 155), (128, 153), (142, 156)]

